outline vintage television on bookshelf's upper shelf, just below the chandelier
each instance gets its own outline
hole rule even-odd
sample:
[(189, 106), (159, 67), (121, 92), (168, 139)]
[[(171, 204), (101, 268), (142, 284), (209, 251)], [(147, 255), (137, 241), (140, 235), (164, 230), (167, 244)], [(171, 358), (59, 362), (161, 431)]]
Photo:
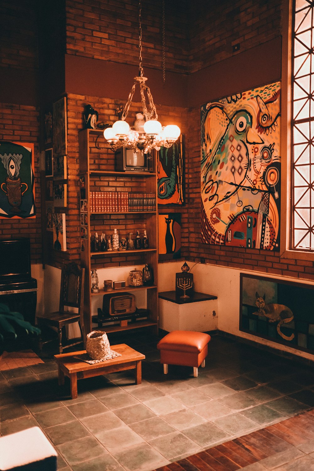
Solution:
[(134, 152), (132, 149), (121, 147), (115, 152), (115, 170), (118, 172), (153, 172), (153, 154)]

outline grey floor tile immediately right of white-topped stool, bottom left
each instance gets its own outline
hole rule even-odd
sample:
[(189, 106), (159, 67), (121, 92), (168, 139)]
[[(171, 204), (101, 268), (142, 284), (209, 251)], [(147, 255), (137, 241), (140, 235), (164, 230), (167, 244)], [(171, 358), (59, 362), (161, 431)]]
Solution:
[(107, 454), (105, 448), (94, 437), (87, 437), (79, 440), (73, 440), (62, 445), (58, 445), (57, 449), (63, 455), (65, 460), (70, 464), (87, 461), (97, 456)]

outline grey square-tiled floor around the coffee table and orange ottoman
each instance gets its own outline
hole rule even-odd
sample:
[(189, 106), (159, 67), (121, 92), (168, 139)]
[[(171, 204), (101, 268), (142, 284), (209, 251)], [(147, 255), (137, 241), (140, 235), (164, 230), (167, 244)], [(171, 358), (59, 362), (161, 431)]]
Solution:
[[(145, 354), (142, 384), (132, 371), (98, 376), (79, 381), (71, 400), (68, 382), (57, 386), (51, 358), (2, 372), (1, 435), (39, 425), (58, 451), (58, 470), (151, 471), (314, 406), (309, 366), (225, 337), (212, 337), (198, 378), (171, 365), (164, 375), (158, 339), (147, 333), (109, 340)], [(258, 465), (250, 469), (265, 468)]]

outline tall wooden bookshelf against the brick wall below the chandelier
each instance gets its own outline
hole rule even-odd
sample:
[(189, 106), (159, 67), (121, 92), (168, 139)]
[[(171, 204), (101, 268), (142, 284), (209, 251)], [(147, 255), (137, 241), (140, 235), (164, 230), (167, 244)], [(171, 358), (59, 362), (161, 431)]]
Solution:
[[(106, 332), (119, 332), (141, 327), (158, 332), (158, 250), (157, 250), (157, 179), (156, 158), (153, 159), (153, 171), (115, 171), (114, 153), (109, 145), (97, 144), (101, 140), (102, 130), (85, 129), (79, 132), (80, 153), (80, 179), (84, 180), (87, 209), (82, 211), (84, 217), (84, 231), (81, 235), (81, 266), (85, 268), (84, 286), (84, 324), (87, 333), (97, 329), (93, 325), (97, 307), (102, 306), (102, 296), (107, 293), (99, 284), (99, 292), (91, 293), (91, 269), (117, 269), (116, 273), (126, 273), (134, 267), (141, 269), (149, 264), (153, 269), (153, 286), (126, 286), (123, 289), (110, 291), (118, 295), (132, 291), (139, 299), (145, 299), (145, 309), (148, 311), (147, 319), (128, 322), (128, 325), (117, 321), (108, 325)], [(94, 193), (94, 195), (93, 195)], [(94, 196), (94, 201), (93, 201)], [(118, 197), (119, 196), (119, 197)], [(96, 200), (96, 197), (98, 198)], [(102, 199), (103, 198), (103, 201)], [(124, 198), (124, 201), (122, 199)], [(126, 200), (127, 198), (127, 200)], [(111, 199), (111, 203), (110, 203)], [(109, 203), (108, 203), (109, 201)], [(96, 207), (97, 203), (97, 207)], [(109, 206), (109, 204), (111, 204)], [(108, 205), (108, 206), (107, 206)], [(147, 207), (148, 206), (148, 207)], [(86, 237), (86, 229), (87, 237)], [(147, 232), (149, 248), (134, 250), (94, 252), (91, 250), (91, 239), (95, 232), (105, 234), (106, 239), (117, 228), (120, 237), (128, 238), (132, 234), (134, 239), (137, 231), (143, 237)], [(127, 273), (128, 273), (127, 272)], [(98, 274), (99, 277), (99, 274)], [(121, 279), (121, 278), (120, 278)], [(113, 281), (115, 281), (113, 279)], [(119, 281), (119, 278), (117, 279)], [(140, 291), (145, 290), (145, 296)], [(137, 294), (138, 293), (138, 294)], [(93, 300), (93, 303), (92, 303)], [(143, 301), (141, 301), (143, 302)], [(97, 307), (96, 307), (97, 306)], [(142, 306), (137, 306), (142, 307)]]

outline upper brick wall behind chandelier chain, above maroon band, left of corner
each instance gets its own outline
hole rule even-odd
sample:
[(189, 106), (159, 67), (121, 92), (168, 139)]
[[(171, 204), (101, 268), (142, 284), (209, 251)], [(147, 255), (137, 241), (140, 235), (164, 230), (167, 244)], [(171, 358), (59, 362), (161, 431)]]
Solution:
[[(165, 1), (166, 69), (188, 70), (189, 1)], [(67, 53), (138, 65), (138, 1), (66, 1)], [(143, 65), (162, 68), (161, 1), (142, 2)]]

